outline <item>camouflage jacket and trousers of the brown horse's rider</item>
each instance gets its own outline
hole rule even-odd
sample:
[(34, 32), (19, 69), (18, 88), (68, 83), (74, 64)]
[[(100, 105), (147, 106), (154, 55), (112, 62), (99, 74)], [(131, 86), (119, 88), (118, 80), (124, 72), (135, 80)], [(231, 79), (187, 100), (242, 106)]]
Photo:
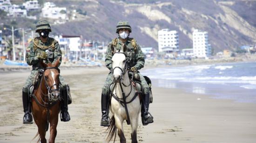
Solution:
[[(34, 44), (37, 44), (38, 46), (35, 46)], [(54, 44), (54, 47), (51, 46), (53, 44)], [(46, 50), (48, 50), (48, 52), (47, 52), (48, 58), (47, 58), (46, 63), (54, 64), (56, 62), (56, 60), (58, 58), (60, 58), (60, 65), (61, 65), (61, 48), (60, 48), (58, 41), (56, 41), (55, 39), (50, 38), (50, 37), (47, 39), (46, 43), (43, 43), (39, 37), (33, 39), (30, 42), (30, 44), (28, 45), (27, 52), (26, 52), (27, 64), (32, 65), (33, 69), (31, 71), (30, 75), (28, 76), (25, 85), (23, 86), (23, 91), (27, 91), (29, 86), (31, 84), (33, 84), (35, 74), (38, 72), (38, 70), (44, 69), (40, 65), (39, 59), (36, 58), (36, 55), (40, 52), (45, 52)], [(66, 83), (64, 82), (63, 77), (60, 75), (59, 78), (60, 78), (61, 88), (63, 88), (64, 86), (66, 87)]]

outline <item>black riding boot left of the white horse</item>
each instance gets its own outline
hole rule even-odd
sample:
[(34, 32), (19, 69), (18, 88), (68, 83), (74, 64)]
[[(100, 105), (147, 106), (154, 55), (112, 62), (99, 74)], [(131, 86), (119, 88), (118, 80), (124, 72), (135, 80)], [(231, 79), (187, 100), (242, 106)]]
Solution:
[(108, 116), (108, 95), (101, 94), (101, 126), (109, 126), (109, 116)]

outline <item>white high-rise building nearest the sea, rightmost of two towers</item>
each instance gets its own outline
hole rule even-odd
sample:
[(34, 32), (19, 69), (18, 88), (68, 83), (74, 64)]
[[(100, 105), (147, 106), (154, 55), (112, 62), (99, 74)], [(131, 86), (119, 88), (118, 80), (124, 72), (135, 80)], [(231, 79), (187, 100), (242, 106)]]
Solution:
[(211, 45), (208, 41), (208, 32), (195, 29), (193, 32), (193, 53), (197, 58), (208, 58), (211, 56)]

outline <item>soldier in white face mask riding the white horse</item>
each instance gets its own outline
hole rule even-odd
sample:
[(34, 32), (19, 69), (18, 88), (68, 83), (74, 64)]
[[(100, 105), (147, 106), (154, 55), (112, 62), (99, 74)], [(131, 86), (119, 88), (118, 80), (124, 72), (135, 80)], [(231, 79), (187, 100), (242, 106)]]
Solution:
[[(105, 65), (111, 71), (112, 69), (112, 50), (111, 46), (115, 50), (119, 50), (123, 45), (127, 46), (127, 59), (128, 59), (128, 70), (138, 72), (141, 80), (141, 85), (143, 88), (143, 100), (141, 104), (141, 119), (142, 124), (147, 125), (148, 123), (153, 123), (153, 117), (148, 112), (149, 107), (149, 86), (145, 78), (139, 73), (142, 67), (144, 67), (144, 54), (141, 51), (141, 47), (136, 43), (136, 40), (129, 38), (129, 33), (132, 32), (131, 26), (128, 21), (119, 21), (116, 26), (116, 33), (119, 35), (119, 38), (115, 38), (108, 45), (107, 55), (105, 59)], [(109, 102), (109, 85), (113, 82), (111, 73), (108, 74), (106, 82), (102, 88), (101, 93), (101, 126), (109, 126), (109, 117), (108, 117), (108, 102)]]

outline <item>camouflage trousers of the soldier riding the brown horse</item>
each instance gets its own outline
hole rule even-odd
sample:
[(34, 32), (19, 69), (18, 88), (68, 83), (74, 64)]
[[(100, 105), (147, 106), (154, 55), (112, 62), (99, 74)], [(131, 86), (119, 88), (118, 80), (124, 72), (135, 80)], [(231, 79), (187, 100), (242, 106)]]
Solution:
[[(28, 78), (26, 80), (25, 85), (23, 86), (22, 90), (24, 92), (27, 92), (29, 86), (33, 84), (34, 77), (35, 77), (37, 72), (38, 72), (37, 70), (32, 70), (31, 71), (30, 75), (28, 76)], [(61, 75), (59, 76), (59, 78), (60, 78), (61, 89), (64, 89), (64, 88), (66, 89), (67, 84), (64, 82), (64, 78)]]

